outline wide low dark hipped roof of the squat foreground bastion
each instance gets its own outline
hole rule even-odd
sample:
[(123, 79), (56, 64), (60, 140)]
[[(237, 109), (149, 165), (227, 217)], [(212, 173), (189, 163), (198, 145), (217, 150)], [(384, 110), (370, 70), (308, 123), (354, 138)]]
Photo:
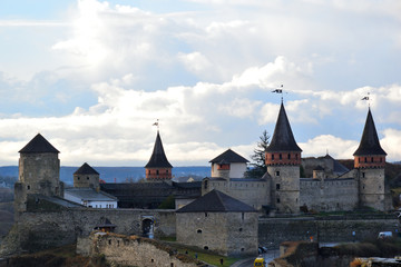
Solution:
[(205, 196), (184, 206), (176, 212), (256, 212), (256, 210), (218, 190), (212, 190)]

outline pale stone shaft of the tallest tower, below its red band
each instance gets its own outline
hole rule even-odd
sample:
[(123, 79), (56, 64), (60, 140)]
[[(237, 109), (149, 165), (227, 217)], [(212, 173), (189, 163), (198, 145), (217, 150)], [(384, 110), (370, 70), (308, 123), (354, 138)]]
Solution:
[(300, 166), (267, 166), (272, 177), (272, 205), (277, 212), (300, 212)]

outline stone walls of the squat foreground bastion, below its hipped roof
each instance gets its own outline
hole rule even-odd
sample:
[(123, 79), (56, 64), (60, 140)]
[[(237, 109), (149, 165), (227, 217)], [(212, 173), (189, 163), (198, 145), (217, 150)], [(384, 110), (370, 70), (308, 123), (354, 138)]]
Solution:
[(257, 254), (256, 212), (177, 214), (177, 241), (229, 256)]

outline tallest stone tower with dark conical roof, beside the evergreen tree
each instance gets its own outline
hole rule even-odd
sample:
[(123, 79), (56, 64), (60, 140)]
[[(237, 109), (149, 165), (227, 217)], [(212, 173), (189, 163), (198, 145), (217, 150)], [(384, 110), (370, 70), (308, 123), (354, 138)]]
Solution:
[(267, 172), (272, 177), (271, 202), (277, 212), (300, 211), (301, 152), (302, 149), (296, 145), (282, 102), (265, 158)]

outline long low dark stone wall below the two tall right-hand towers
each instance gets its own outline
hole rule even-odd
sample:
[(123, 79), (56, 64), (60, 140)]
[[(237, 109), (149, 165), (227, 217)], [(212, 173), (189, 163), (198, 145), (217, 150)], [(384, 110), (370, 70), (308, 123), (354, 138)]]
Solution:
[[(265, 218), (260, 219), (260, 245), (277, 248), (287, 240), (320, 243), (363, 241), (378, 238), (380, 231), (393, 231), (400, 224), (395, 216), (327, 216), (326, 218)], [(355, 233), (355, 235), (353, 235)]]

